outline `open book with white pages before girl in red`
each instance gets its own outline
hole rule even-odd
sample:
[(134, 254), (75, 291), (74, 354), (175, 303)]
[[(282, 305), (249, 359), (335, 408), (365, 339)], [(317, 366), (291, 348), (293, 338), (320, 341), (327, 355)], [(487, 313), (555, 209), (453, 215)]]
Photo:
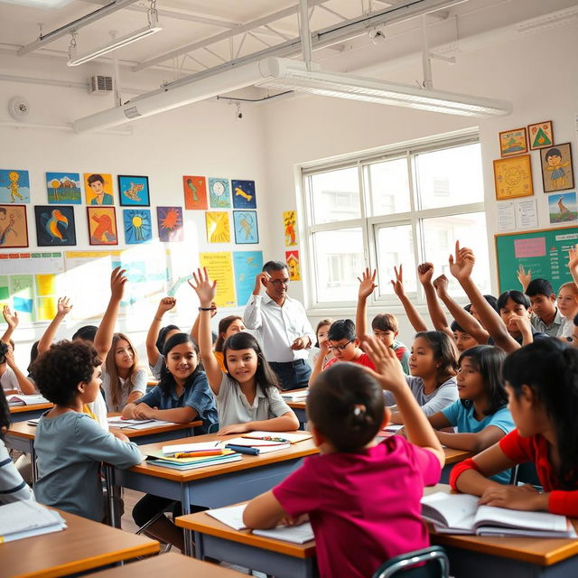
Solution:
[(577, 537), (570, 520), (548, 512), (479, 506), (478, 496), (435, 492), (422, 498), (422, 517), (441, 534)]

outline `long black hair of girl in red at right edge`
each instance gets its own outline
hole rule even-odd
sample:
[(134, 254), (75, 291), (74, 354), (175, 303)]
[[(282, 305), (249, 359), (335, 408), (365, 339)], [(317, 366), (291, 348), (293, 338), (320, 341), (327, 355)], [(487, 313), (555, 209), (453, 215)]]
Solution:
[(503, 377), (517, 398), (527, 386), (543, 404), (555, 429), (560, 465), (555, 468), (562, 488), (578, 484), (578, 350), (559, 340), (536, 340), (510, 353)]

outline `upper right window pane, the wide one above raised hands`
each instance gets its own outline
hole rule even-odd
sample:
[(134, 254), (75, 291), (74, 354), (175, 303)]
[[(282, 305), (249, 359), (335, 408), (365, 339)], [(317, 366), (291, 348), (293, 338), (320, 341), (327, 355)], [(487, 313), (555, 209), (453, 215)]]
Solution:
[(417, 154), (415, 173), (422, 209), (484, 200), (480, 144)]

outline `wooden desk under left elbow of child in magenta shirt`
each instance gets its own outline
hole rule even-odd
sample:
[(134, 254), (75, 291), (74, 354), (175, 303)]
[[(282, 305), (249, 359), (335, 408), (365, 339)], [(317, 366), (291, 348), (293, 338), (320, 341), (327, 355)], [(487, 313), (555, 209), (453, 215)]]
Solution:
[(195, 554), (239, 564), (275, 578), (312, 578), (317, 570), (315, 542), (292, 544), (251, 530), (235, 530), (205, 512), (176, 518), (176, 525), (194, 532)]

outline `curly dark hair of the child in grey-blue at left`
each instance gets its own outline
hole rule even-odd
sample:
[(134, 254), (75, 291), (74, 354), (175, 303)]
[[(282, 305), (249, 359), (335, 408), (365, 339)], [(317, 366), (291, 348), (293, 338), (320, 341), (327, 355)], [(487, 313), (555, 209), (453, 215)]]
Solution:
[(91, 343), (62, 340), (34, 361), (34, 383), (48, 401), (68, 406), (78, 394), (79, 383), (89, 383), (94, 368), (100, 365), (97, 350)]

